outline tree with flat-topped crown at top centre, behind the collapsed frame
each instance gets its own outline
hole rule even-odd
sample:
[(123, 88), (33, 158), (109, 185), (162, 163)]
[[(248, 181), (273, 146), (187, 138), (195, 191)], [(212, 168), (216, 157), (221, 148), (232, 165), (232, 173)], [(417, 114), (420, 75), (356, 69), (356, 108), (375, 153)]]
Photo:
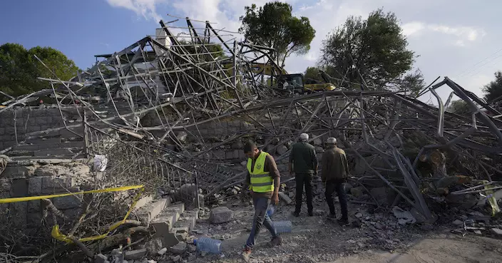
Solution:
[(245, 6), (245, 11), (245, 16), (240, 17), (240, 33), (253, 43), (275, 48), (272, 58), (279, 66), (284, 67), (285, 59), (292, 53), (309, 51), (315, 30), (307, 17), (292, 16), (290, 4), (275, 1), (260, 8), (252, 4)]

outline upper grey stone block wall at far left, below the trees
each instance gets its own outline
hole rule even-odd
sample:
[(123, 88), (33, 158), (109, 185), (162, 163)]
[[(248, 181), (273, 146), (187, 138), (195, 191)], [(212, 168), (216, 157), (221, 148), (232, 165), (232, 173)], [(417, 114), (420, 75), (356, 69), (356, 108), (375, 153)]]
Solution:
[[(79, 119), (74, 108), (63, 108), (63, 115), (68, 123)], [(63, 118), (58, 108), (16, 108), (0, 113), (0, 150), (22, 142), (26, 133), (33, 133), (49, 128), (62, 127)]]

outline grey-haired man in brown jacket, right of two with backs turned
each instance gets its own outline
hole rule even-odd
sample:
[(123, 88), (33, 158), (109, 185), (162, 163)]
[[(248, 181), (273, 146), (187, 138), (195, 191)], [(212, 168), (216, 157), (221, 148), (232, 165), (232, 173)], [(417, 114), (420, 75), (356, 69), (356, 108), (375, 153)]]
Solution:
[(342, 208), (342, 218), (338, 220), (340, 225), (349, 224), (347, 211), (347, 194), (345, 193), (345, 182), (349, 177), (349, 165), (344, 150), (337, 147), (337, 139), (327, 139), (327, 149), (322, 154), (322, 182), (326, 185), (326, 202), (329, 206), (329, 219), (337, 218), (334, 213), (333, 192), (337, 192), (340, 207)]

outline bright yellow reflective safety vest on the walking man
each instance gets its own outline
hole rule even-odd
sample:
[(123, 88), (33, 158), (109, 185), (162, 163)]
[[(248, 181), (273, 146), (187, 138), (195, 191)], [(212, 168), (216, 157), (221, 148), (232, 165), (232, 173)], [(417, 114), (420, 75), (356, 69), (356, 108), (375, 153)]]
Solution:
[(250, 190), (253, 192), (270, 192), (274, 190), (274, 178), (270, 176), (270, 172), (265, 172), (265, 158), (268, 153), (262, 151), (255, 160), (255, 169), (252, 167), (252, 159), (247, 159), (247, 171), (250, 172), (251, 185)]

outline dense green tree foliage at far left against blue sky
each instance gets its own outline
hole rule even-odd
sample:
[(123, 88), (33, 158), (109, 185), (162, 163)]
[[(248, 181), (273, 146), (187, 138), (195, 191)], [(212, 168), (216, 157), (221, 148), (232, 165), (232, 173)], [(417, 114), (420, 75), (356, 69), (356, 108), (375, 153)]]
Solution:
[(78, 67), (61, 51), (40, 46), (26, 50), (18, 43), (5, 43), (0, 46), (0, 91), (15, 97), (51, 88), (47, 81), (37, 79), (54, 76), (34, 55), (61, 80), (68, 81), (72, 76), (76, 76)]

